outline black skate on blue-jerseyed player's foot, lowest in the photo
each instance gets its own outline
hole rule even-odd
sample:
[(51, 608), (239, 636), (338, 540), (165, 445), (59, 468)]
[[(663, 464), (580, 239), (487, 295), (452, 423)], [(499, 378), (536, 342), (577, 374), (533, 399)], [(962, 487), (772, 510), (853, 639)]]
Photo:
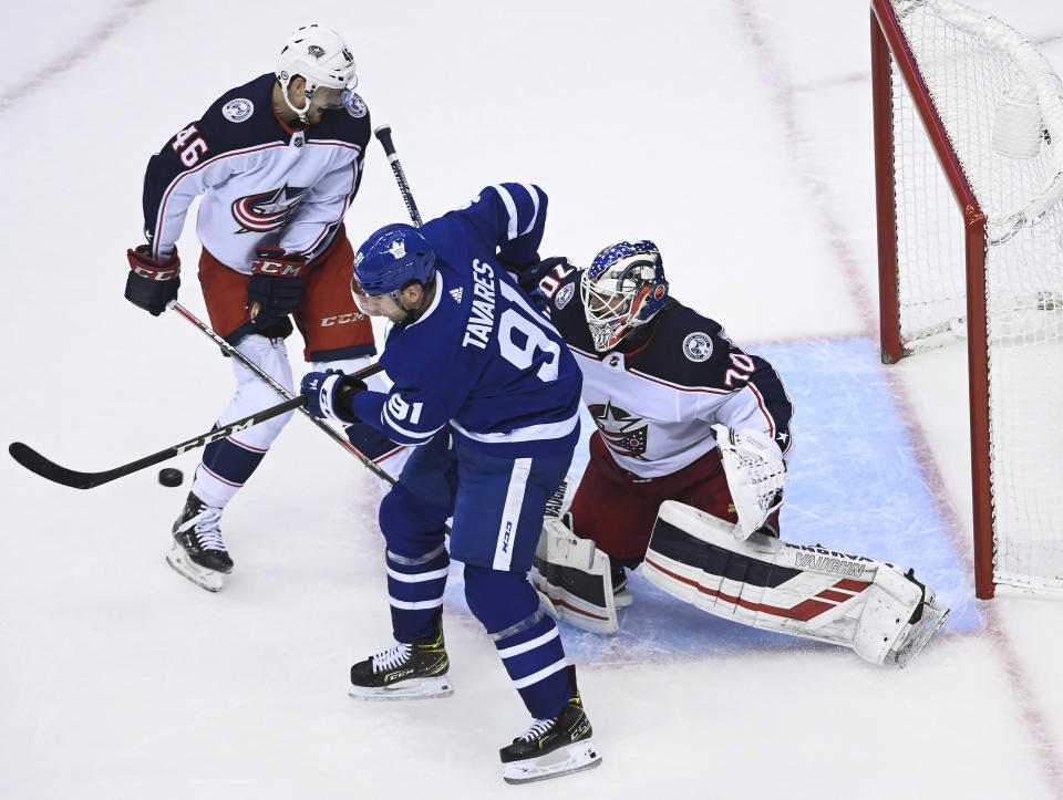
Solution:
[(572, 696), (554, 719), (536, 719), (532, 727), (498, 751), (507, 783), (557, 778), (601, 763), (601, 755), (590, 740), (594, 733), (584, 711), (576, 668), (569, 667)]

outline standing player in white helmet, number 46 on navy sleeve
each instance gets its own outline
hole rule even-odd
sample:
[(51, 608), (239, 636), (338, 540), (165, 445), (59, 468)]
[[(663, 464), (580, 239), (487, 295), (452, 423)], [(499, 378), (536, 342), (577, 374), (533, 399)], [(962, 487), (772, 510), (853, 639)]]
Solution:
[[(369, 320), (350, 295), (353, 249), (343, 229), (362, 179), (369, 111), (351, 90), (354, 58), (336, 31), (297, 29), (275, 72), (221, 95), (174, 135), (147, 165), (147, 245), (128, 251), (125, 297), (153, 315), (177, 298), (176, 242), (202, 197), (199, 282), (211, 326), (266, 373), (292, 388), (285, 339), (291, 319), (303, 356), (353, 371), (376, 350)], [(225, 425), (277, 402), (265, 382), (233, 362), (236, 393)], [(205, 589), (221, 588), (233, 560), (221, 510), (250, 478), (291, 415), (215, 441), (204, 450), (192, 492), (173, 527), (167, 562)], [(396, 446), (367, 425), (352, 444), (383, 460)]]

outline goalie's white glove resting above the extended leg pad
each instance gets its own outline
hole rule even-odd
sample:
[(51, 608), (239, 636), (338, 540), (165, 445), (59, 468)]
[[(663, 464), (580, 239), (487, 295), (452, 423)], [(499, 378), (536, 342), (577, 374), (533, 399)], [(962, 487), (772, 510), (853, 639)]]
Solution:
[(761, 434), (742, 434), (724, 425), (713, 425), (716, 446), (723, 458), (723, 471), (739, 515), (734, 534), (741, 539), (760, 530), (783, 505), (786, 465), (783, 453)]

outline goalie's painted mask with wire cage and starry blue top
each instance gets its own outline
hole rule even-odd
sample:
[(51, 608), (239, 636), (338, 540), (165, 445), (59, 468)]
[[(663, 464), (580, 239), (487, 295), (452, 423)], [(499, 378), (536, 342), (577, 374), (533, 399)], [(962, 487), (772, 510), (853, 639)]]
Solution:
[(661, 253), (649, 239), (621, 241), (595, 256), (579, 281), (587, 324), (599, 353), (616, 347), (668, 302)]

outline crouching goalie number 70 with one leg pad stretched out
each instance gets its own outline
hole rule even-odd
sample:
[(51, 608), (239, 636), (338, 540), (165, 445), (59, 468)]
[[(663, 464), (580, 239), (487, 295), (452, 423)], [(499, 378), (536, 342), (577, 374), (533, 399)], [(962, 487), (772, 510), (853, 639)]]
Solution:
[[(537, 280), (536, 280), (537, 279)], [(561, 619), (618, 630), (625, 569), (727, 619), (904, 665), (948, 614), (909, 570), (778, 539), (793, 404), (764, 359), (669, 295), (651, 241), (527, 280), (584, 373), (598, 430), (533, 582)]]

